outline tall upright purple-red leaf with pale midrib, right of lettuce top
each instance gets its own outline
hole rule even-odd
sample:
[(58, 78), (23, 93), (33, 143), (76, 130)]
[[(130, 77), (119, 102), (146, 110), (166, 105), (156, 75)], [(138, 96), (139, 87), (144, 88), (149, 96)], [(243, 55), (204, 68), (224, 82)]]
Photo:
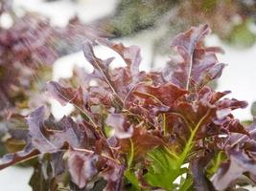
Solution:
[(215, 53), (221, 52), (221, 49), (202, 45), (203, 38), (210, 32), (207, 25), (202, 25), (175, 37), (172, 46), (181, 55), (181, 60), (171, 59), (173, 70), (168, 70), (169, 81), (186, 90), (193, 90), (220, 77), (224, 64), (218, 62)]

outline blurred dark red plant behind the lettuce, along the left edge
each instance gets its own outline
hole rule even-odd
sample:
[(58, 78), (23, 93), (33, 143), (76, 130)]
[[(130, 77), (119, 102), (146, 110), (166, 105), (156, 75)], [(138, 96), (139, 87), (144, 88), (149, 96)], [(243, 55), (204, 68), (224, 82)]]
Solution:
[[(6, 140), (7, 133), (14, 134), (16, 128), (26, 132), (22, 117), (47, 104), (41, 92), (45, 82), (52, 79), (52, 65), (58, 57), (81, 50), (85, 39), (105, 34), (81, 24), (77, 17), (59, 28), (48, 18), (29, 11), (18, 16), (12, 1), (0, 2), (3, 17), (9, 18), (9, 23), (0, 25), (0, 136)], [(6, 142), (12, 142), (12, 146), (21, 143), (14, 138)], [(1, 148), (5, 153), (2, 144)]]

